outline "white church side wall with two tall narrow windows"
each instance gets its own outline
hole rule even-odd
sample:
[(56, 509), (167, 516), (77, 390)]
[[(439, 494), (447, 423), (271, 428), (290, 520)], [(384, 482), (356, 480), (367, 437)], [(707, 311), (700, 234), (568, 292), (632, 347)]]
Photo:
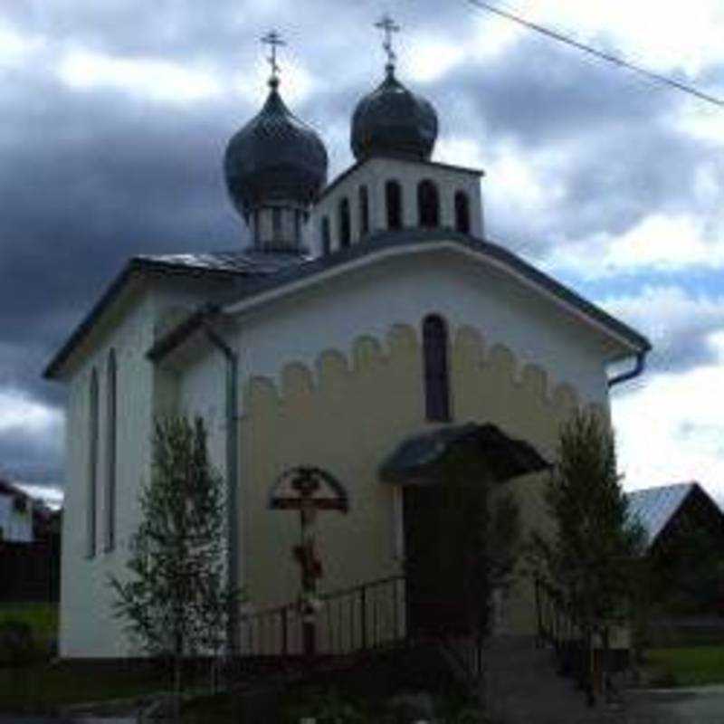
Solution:
[[(153, 369), (145, 352), (153, 339), (154, 301), (117, 309), (94, 338), (69, 383), (66, 417), (66, 487), (62, 521), (60, 653), (62, 657), (122, 656), (131, 653), (112, 615), (108, 576), (123, 576), (129, 536), (138, 519), (138, 484), (148, 474)], [(107, 364), (110, 349), (118, 365), (116, 545), (103, 549), (107, 504)], [(87, 557), (90, 376), (99, 380), (99, 448), (96, 477), (96, 554)]]

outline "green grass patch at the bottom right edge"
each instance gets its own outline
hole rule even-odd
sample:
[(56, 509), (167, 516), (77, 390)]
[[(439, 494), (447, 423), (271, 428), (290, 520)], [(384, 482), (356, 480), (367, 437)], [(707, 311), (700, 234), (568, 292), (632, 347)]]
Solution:
[(724, 683), (724, 646), (652, 649), (646, 662), (659, 686)]

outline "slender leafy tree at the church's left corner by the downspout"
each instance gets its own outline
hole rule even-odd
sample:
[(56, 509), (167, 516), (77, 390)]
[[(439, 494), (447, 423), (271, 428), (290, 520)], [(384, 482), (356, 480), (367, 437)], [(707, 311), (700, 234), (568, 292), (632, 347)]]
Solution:
[(206, 436), (200, 417), (157, 420), (127, 575), (110, 578), (116, 615), (149, 655), (172, 664), (177, 695), (184, 658), (215, 661), (238, 601), (226, 584), (223, 481)]

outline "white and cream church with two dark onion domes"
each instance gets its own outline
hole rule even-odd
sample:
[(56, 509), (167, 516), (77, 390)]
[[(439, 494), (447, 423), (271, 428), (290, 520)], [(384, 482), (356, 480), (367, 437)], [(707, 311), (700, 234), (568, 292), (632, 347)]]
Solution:
[[(482, 172), (430, 159), (435, 110), (392, 64), (354, 112), (355, 164), (329, 185), (319, 135), (278, 85), (225, 157), (250, 245), (131, 259), (47, 367), (69, 391), (62, 656), (138, 653), (108, 577), (125, 574), (156, 415), (205, 418), (229, 481), (229, 575), (252, 609), (299, 595), (299, 521), (269, 495), (313, 465), (349, 500), (319, 515), (320, 589), (412, 576), (405, 561), (422, 558), (409, 632), (452, 615), (431, 613), (446, 594), (430, 586), (465, 555), (438, 514), (446, 452), (468, 445), (523, 525), (545, 526), (537, 471), (559, 425), (578, 405), (608, 415), (609, 387), (643, 368), (645, 338), (485, 240)], [(614, 379), (622, 363), (633, 372)], [(534, 632), (528, 581), (498, 600), (500, 629)]]

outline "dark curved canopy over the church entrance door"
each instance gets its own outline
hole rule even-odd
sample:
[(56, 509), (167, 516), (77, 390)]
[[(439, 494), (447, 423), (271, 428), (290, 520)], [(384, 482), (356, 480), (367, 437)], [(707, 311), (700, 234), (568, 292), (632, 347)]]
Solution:
[(467, 423), (441, 427), (399, 443), (380, 465), (380, 479), (397, 485), (433, 485), (440, 481), (445, 458), (453, 450), (480, 455), (491, 480), (497, 482), (551, 467), (531, 444), (509, 437), (498, 426)]

